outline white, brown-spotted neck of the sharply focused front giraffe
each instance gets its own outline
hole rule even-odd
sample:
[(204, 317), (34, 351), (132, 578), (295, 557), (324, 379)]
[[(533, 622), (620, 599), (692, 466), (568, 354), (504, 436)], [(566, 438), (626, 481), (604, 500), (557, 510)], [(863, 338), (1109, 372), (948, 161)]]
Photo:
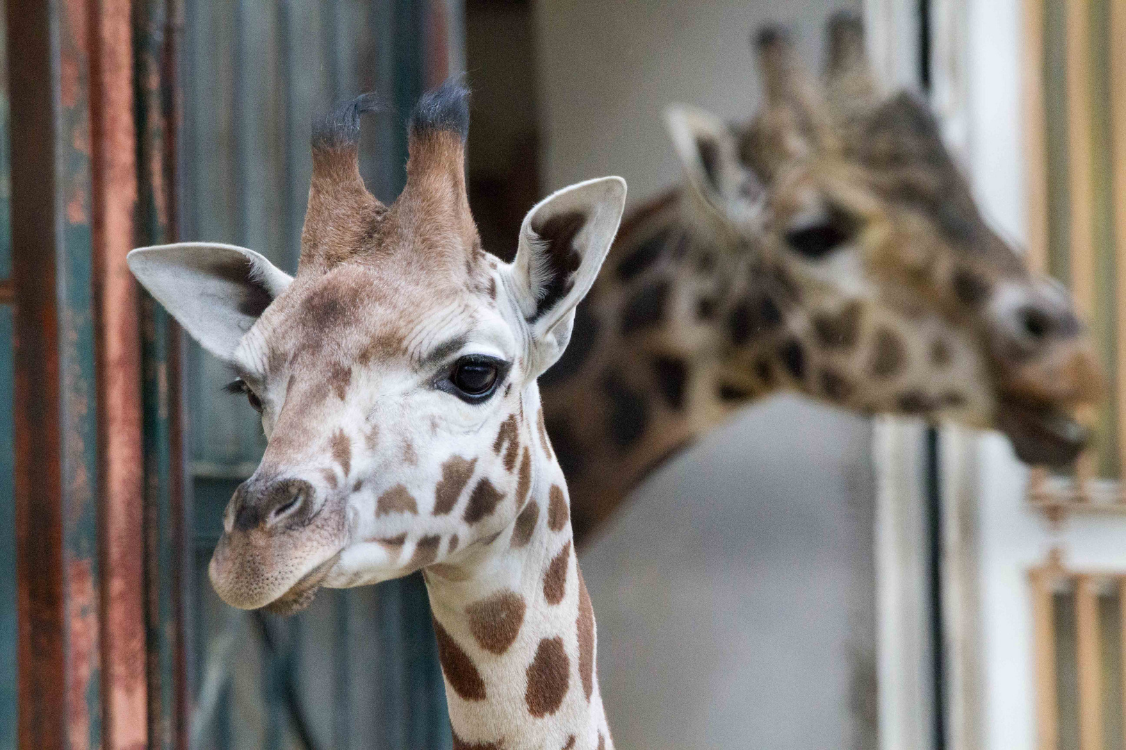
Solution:
[(524, 401), (530, 490), (516, 521), (425, 571), (455, 750), (613, 748), (595, 670), (595, 616), (566, 482)]

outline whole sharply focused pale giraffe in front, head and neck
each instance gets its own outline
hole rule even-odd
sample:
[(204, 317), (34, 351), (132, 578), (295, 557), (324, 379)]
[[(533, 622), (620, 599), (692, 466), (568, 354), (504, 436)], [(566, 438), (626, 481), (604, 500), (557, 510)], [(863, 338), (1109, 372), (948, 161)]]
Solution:
[(129, 268), (239, 373), (268, 444), (211, 562), (227, 604), (289, 613), (321, 586), (423, 569), (454, 747), (613, 747), (595, 616), (536, 378), (617, 231), (625, 182), (531, 209), (512, 264), (481, 247), (465, 192), (467, 92), (410, 125), (391, 207), (358, 170), (361, 97), (313, 135), (297, 275), (250, 250), (136, 250)]

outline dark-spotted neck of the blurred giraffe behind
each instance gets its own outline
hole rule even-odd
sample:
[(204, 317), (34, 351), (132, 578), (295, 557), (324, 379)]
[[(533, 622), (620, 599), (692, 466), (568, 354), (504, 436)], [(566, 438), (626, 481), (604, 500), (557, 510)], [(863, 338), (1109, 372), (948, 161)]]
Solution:
[(734, 298), (756, 271), (697, 211), (678, 189), (633, 213), (540, 378), (580, 543), (651, 470), (769, 389), (724, 372)]

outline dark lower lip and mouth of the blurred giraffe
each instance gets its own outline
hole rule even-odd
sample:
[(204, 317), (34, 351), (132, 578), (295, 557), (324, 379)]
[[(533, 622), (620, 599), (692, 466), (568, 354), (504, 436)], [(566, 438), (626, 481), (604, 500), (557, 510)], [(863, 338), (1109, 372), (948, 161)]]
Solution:
[(1017, 458), (1030, 466), (1064, 467), (1079, 457), (1089, 436), (1074, 416), (1037, 401), (1002, 400), (997, 424), (1009, 436)]

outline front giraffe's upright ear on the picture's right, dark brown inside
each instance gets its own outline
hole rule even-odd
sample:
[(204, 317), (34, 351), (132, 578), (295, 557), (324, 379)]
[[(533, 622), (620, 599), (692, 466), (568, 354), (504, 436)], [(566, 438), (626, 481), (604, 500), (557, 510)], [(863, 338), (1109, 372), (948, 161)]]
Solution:
[(531, 337), (530, 374), (566, 349), (574, 308), (595, 283), (625, 204), (626, 181), (607, 177), (563, 188), (524, 217), (509, 272)]

